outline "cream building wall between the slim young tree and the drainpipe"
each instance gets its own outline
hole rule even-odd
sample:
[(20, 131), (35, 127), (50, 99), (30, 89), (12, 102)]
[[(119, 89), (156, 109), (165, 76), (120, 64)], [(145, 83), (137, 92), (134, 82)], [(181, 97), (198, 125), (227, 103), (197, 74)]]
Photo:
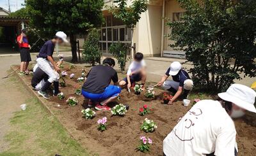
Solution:
[[(137, 52), (145, 56), (156, 56), (161, 53), (162, 7), (148, 5), (148, 10), (141, 15), (141, 19), (134, 32), (134, 43)], [(137, 34), (136, 34), (137, 33)]]

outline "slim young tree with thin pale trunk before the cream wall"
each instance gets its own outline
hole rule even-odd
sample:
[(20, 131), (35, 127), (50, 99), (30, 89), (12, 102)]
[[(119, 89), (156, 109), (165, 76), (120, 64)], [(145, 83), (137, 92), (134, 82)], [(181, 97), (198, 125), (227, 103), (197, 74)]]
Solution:
[[(133, 47), (133, 31), (137, 22), (140, 20), (141, 13), (147, 11), (147, 0), (134, 0), (131, 6), (127, 5), (127, 0), (114, 0), (117, 6), (110, 8), (115, 18), (119, 18), (124, 24), (131, 28), (132, 31), (132, 47)], [(133, 56), (133, 53), (132, 53)]]

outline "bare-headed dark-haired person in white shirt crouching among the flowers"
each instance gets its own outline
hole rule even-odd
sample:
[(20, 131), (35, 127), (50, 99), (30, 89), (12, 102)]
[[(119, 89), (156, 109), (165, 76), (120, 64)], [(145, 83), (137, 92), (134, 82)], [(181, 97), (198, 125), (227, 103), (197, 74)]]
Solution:
[(135, 82), (140, 82), (142, 88), (144, 88), (147, 74), (146, 74), (146, 63), (145, 60), (143, 60), (143, 54), (142, 53), (136, 53), (134, 55), (134, 61), (130, 64), (127, 76), (123, 80), (119, 82), (119, 85), (121, 87), (127, 85), (127, 88), (134, 87)]

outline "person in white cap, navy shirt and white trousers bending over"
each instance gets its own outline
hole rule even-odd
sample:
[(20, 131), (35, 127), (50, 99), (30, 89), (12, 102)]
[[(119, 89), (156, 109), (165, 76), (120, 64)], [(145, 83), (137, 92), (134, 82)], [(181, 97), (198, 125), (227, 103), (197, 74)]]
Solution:
[(54, 95), (57, 95), (59, 93), (58, 86), (59, 86), (59, 78), (60, 75), (58, 74), (60, 72), (60, 68), (58, 67), (58, 64), (54, 61), (52, 54), (54, 51), (55, 45), (59, 45), (61, 43), (68, 42), (67, 41), (67, 35), (62, 32), (58, 31), (56, 32), (56, 35), (54, 38), (52, 38), (49, 41), (46, 41), (42, 48), (40, 49), (38, 58), (36, 59), (38, 67), (46, 73), (49, 78), (45, 82), (44, 86), (42, 86), (41, 90), (38, 90), (38, 94), (40, 96), (43, 96), (45, 99), (49, 99), (49, 96), (46, 94), (46, 90), (51, 86), (51, 83), (53, 82), (54, 85)]

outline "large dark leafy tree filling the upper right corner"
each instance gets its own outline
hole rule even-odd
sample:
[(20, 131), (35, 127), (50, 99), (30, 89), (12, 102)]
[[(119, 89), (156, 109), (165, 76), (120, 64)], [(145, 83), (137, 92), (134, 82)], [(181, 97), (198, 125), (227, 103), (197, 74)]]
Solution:
[(225, 90), (242, 76), (256, 76), (256, 1), (179, 0), (182, 21), (169, 22), (170, 39), (186, 52), (196, 86)]

